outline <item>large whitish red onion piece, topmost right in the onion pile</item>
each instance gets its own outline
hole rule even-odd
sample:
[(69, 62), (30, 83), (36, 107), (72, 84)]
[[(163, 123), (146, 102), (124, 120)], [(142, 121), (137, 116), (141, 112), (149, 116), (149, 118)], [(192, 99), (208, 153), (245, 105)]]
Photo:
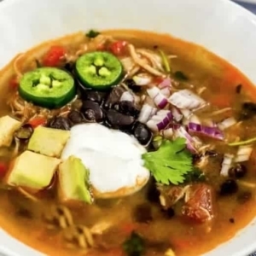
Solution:
[(168, 101), (177, 108), (187, 108), (190, 110), (199, 109), (206, 105), (206, 102), (200, 96), (187, 89), (174, 92)]

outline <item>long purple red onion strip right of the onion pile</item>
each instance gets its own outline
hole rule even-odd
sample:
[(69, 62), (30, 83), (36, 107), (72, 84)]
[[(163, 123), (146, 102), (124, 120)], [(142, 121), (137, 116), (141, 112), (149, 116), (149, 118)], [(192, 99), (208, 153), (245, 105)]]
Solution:
[(209, 127), (189, 122), (188, 128), (189, 131), (199, 132), (208, 137), (216, 138), (218, 140), (224, 140), (224, 134), (222, 131), (218, 129), (218, 127)]

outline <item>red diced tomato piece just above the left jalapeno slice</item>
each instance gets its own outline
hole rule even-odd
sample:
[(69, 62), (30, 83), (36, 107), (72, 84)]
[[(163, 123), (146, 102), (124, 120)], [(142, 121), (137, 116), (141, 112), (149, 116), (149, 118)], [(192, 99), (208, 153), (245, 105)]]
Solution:
[(44, 55), (43, 65), (46, 67), (57, 67), (61, 58), (66, 54), (66, 49), (60, 45), (52, 46)]

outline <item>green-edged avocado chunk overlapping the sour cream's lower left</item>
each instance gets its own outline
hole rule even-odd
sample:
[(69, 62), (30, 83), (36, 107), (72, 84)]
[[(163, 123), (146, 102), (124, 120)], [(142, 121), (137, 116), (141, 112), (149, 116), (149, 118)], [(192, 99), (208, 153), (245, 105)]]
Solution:
[(71, 155), (59, 167), (58, 192), (61, 201), (92, 203), (89, 170), (79, 158)]

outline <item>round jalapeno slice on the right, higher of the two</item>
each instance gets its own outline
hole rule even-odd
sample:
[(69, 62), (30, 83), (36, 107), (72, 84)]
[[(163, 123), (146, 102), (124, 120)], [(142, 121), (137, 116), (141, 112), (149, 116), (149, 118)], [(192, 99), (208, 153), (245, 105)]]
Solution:
[(95, 90), (107, 90), (119, 84), (123, 78), (121, 62), (106, 51), (94, 51), (80, 56), (75, 70), (80, 82)]

